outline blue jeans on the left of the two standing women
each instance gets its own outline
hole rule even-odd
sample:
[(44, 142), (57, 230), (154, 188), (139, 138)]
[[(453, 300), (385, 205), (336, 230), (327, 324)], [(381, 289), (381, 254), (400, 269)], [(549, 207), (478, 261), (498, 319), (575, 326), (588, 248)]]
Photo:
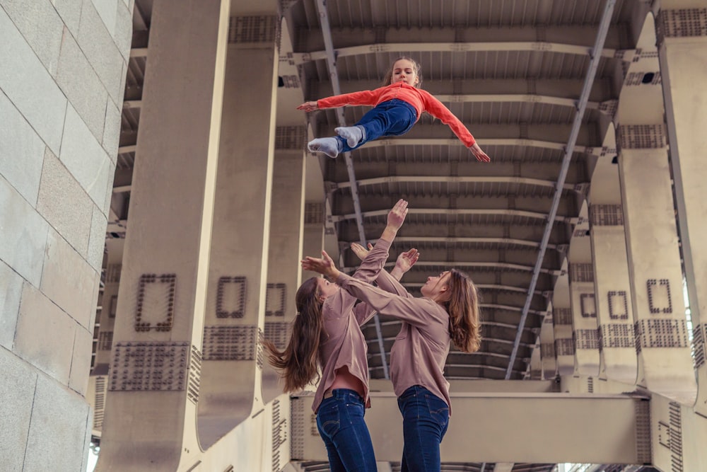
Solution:
[(349, 388), (332, 390), (317, 410), (317, 429), (324, 439), (332, 472), (376, 472), (373, 443), (363, 422), (366, 405)]

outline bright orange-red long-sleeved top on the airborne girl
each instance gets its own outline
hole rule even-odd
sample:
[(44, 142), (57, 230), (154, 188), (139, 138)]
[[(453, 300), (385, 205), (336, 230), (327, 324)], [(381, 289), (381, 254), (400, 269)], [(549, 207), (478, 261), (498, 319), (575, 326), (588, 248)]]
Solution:
[(412, 105), (417, 110), (417, 119), (420, 119), (423, 111), (426, 111), (433, 117), (441, 120), (445, 125), (450, 127), (454, 134), (460, 139), (464, 146), (474, 146), (476, 139), (469, 132), (469, 129), (464, 126), (459, 118), (450, 112), (449, 108), (445, 107), (440, 100), (437, 100), (431, 93), (423, 91), (421, 88), (415, 88), (404, 82), (397, 82), (389, 86), (376, 88), (375, 90), (364, 90), (360, 92), (342, 93), (332, 97), (322, 98), (317, 100), (319, 108), (337, 108), (344, 105), (378, 105), (378, 103), (386, 102), (398, 98)]

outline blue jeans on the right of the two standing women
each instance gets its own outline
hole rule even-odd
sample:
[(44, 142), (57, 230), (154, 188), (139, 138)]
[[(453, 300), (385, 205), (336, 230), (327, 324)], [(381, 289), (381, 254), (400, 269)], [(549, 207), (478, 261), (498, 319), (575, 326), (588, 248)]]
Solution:
[(401, 472), (439, 472), (440, 443), (449, 425), (449, 406), (442, 398), (419, 385), (398, 397), (402, 413)]

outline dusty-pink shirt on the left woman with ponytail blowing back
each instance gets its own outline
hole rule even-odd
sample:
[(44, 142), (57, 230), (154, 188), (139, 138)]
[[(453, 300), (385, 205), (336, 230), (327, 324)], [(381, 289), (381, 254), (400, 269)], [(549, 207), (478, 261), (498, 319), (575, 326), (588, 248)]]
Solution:
[[(388, 258), (389, 249), (390, 242), (379, 239), (351, 278), (363, 284), (373, 282)], [(356, 300), (356, 297), (340, 289), (336, 294), (327, 297), (322, 306), (326, 340), (319, 348), (322, 379), (312, 403), (315, 413), (324, 399), (325, 391), (334, 383), (337, 369), (341, 367), (347, 367), (351, 374), (361, 380), (363, 401), (366, 408), (370, 407), (366, 357), (368, 346), (361, 333), (361, 325), (370, 320), (375, 311), (363, 303), (354, 307)]]

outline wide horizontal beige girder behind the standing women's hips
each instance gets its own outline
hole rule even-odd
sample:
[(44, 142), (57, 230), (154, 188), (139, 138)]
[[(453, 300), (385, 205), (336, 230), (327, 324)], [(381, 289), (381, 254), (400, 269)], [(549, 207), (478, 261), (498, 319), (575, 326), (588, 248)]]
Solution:
[[(637, 464), (640, 451), (650, 448), (649, 408), (641, 396), (472, 393), (455, 388), (451, 400), (450, 425), (440, 449), (443, 462)], [(291, 398), (293, 416), (300, 418), (291, 437), (300, 439), (303, 455), (293, 459), (325, 461), (322, 440), (310, 433), (311, 403), (310, 396)], [(399, 461), (402, 419), (395, 393), (373, 391), (371, 404), (366, 423), (376, 459)], [(513, 427), (504, 428), (508, 421)], [(488, 434), (470, 437), (469, 425), (480, 425)]]

